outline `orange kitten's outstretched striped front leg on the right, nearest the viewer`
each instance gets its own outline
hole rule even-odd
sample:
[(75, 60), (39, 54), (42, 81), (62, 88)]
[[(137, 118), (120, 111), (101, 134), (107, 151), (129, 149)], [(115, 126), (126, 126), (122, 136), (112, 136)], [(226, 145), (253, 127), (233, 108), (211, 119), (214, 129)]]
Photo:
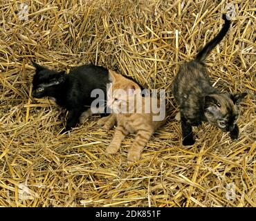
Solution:
[(127, 160), (134, 162), (140, 159), (140, 153), (143, 151), (143, 148), (146, 146), (147, 142), (149, 141), (150, 137), (154, 131), (138, 131), (136, 140), (134, 144), (131, 146), (128, 152)]

